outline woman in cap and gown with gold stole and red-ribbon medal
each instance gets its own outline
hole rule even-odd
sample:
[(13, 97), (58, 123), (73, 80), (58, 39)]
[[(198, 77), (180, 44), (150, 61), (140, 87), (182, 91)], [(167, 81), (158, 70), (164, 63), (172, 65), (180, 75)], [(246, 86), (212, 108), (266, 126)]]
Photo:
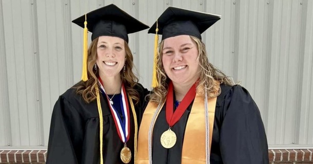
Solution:
[(219, 19), (168, 7), (150, 28), (162, 41), (139, 131), (138, 164), (268, 163), (257, 105), (209, 63), (201, 41), (201, 33)]

